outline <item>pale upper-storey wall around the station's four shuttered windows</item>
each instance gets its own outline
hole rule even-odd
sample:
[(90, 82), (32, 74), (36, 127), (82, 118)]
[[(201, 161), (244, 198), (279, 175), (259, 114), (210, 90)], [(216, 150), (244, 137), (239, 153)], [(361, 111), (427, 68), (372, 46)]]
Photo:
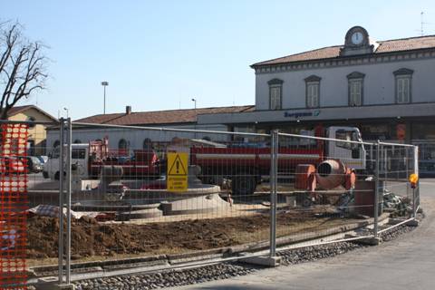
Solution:
[(347, 106), (348, 79), (353, 72), (364, 73), (363, 104), (389, 104), (395, 102), (394, 71), (407, 68), (412, 74), (412, 102), (435, 102), (435, 58), (402, 60), (391, 63), (367, 63), (334, 66), (277, 73), (256, 73), (256, 110), (269, 109), (269, 86), (272, 79), (283, 80), (283, 109), (305, 107), (305, 82), (310, 75), (322, 78), (320, 106)]

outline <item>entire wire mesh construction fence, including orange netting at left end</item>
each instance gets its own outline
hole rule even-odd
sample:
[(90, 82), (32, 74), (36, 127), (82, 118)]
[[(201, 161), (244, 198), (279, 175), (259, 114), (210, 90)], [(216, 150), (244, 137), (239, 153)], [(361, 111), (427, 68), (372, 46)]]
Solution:
[[(101, 261), (115, 275), (123, 261), (176, 267), (377, 238), (395, 227), (388, 218), (420, 207), (410, 182), (419, 147), (345, 128), (322, 138), (71, 119), (0, 125), (0, 288), (38, 275), (68, 285), (99, 275), (87, 267)], [(11, 165), (31, 156), (48, 157), (42, 171)]]

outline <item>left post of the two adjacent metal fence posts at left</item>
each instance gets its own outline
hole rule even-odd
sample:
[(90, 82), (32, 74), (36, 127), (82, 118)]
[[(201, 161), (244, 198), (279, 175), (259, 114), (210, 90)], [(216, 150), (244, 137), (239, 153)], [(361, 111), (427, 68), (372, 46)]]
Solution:
[(59, 284), (63, 284), (63, 144), (64, 144), (64, 120), (61, 118), (59, 120), (59, 140), (60, 140), (60, 150), (59, 150), (59, 245), (58, 245), (58, 280)]

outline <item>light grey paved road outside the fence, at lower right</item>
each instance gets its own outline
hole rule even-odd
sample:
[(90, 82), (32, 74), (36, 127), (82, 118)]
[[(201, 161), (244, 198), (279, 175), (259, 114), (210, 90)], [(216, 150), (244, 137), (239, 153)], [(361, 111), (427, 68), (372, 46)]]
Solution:
[(420, 192), (420, 227), (379, 247), (177, 289), (434, 289), (435, 179), (422, 179)]

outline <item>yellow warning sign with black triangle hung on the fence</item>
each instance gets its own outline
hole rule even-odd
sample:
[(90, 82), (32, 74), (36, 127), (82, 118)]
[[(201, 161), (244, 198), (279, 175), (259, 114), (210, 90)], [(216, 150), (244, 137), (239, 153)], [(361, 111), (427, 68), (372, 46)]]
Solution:
[(188, 190), (188, 160), (189, 154), (185, 152), (168, 152), (168, 191)]

